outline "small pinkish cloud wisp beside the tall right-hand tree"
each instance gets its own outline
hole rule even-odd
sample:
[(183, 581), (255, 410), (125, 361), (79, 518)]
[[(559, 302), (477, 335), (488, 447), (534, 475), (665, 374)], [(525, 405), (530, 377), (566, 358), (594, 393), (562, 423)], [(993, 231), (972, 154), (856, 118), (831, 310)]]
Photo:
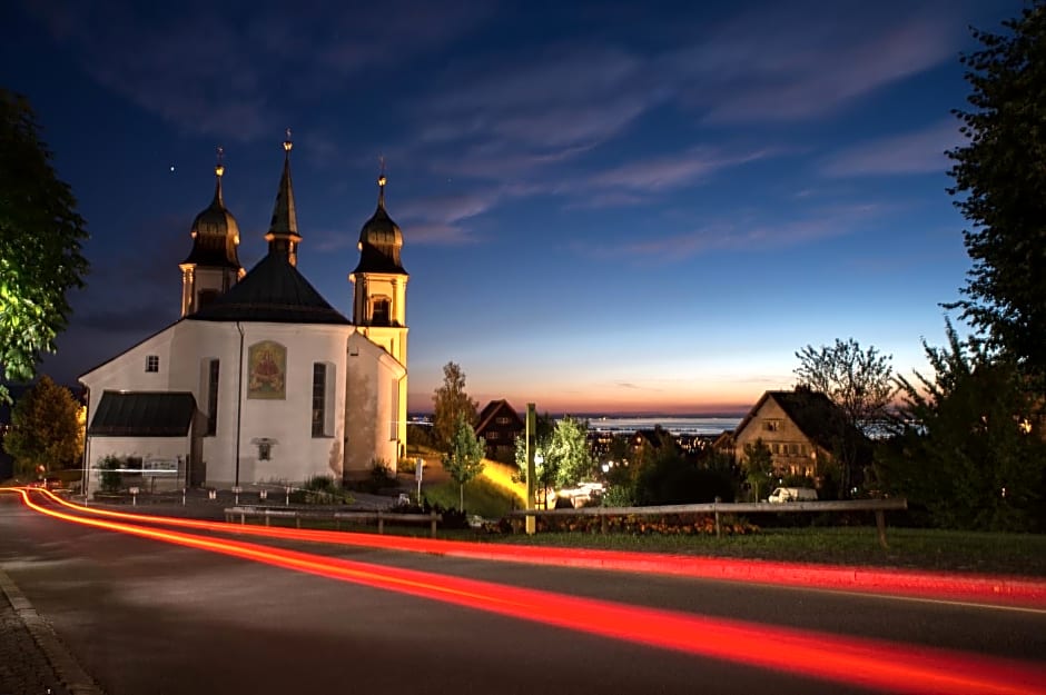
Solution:
[(961, 142), (958, 123), (949, 119), (843, 149), (821, 163), (821, 172), (830, 177), (944, 172), (948, 168), (945, 150)]

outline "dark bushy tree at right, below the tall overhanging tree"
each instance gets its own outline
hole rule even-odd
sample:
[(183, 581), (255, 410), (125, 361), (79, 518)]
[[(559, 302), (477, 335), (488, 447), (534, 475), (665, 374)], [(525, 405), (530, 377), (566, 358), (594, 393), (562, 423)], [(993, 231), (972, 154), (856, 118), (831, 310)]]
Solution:
[(1046, 439), (1035, 399), (1008, 354), (947, 325), (948, 347), (922, 342), (932, 378), (898, 378), (905, 403), (877, 474), (946, 528), (1046, 527)]

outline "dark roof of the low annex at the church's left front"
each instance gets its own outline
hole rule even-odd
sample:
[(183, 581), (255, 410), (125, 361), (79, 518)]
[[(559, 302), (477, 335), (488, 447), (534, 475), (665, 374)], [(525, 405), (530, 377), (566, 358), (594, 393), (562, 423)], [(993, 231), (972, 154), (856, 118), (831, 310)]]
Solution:
[(89, 435), (110, 437), (184, 437), (196, 399), (189, 393), (105, 391), (91, 418)]

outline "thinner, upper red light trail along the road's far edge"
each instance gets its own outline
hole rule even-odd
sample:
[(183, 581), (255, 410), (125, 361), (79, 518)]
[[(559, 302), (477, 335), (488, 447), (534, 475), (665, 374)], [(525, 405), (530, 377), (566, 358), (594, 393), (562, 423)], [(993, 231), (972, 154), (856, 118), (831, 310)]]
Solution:
[(56, 503), (80, 513), (131, 522), (226, 534), (231, 533), (245, 536), (349, 545), (407, 553), (426, 553), (430, 555), (444, 555), (470, 559), (529, 563), (555, 567), (654, 573), (697, 579), (749, 582), (858, 593), (888, 593), (892, 595), (1020, 605), (1046, 609), (1046, 582), (1025, 577), (963, 574), (941, 575), (870, 567), (841, 567), (813, 564), (800, 566), (767, 560), (705, 558), (660, 553), (578, 550), (573, 548), (463, 540), (435, 540), (430, 538), (377, 536), (374, 534), (354, 534), (346, 532), (249, 526), (98, 509), (95, 507), (75, 505), (49, 490), (41, 489), (38, 492), (43, 493)]

